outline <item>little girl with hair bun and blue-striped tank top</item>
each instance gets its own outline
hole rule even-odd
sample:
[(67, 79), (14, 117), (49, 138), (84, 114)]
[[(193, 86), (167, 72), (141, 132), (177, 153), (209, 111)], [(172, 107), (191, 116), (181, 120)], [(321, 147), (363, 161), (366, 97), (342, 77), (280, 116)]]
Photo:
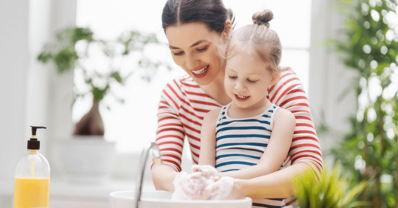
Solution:
[[(254, 24), (233, 32), (227, 44), (224, 87), (232, 103), (208, 112), (200, 134), (199, 165), (215, 167), (220, 176), (252, 179), (284, 168), (296, 121), (267, 98), (282, 55), (272, 18), (271, 10), (256, 12)], [(253, 199), (253, 207), (284, 205), (284, 199)]]

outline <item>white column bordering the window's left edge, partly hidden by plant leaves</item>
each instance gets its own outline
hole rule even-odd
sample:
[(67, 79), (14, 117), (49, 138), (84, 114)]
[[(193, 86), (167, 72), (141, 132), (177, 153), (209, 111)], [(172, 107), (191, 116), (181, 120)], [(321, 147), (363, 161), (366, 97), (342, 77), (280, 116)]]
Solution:
[[(51, 35), (46, 40), (47, 42), (55, 41), (57, 31), (73, 27), (76, 22), (76, 0), (51, 0), (51, 2)], [(72, 124), (73, 73), (57, 74), (54, 66), (45, 67), (48, 68), (48, 146), (52, 147), (47, 153), (50, 165), (51, 162), (54, 164), (52, 173), (56, 174), (54, 143), (57, 140), (70, 138), (74, 128)]]

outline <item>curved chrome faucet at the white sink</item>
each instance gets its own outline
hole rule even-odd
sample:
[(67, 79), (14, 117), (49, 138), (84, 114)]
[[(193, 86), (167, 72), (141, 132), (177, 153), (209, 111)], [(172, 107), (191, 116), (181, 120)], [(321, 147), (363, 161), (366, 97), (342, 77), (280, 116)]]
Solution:
[(155, 142), (147, 143), (144, 146), (144, 149), (142, 150), (140, 166), (138, 167), (139, 169), (137, 170), (137, 183), (136, 183), (137, 187), (135, 189), (135, 208), (141, 207), (140, 204), (141, 204), (142, 182), (144, 178), (145, 164), (146, 160), (148, 159), (148, 154), (150, 149), (152, 149), (153, 152), (153, 164), (160, 165), (163, 162), (158, 145), (155, 144)]

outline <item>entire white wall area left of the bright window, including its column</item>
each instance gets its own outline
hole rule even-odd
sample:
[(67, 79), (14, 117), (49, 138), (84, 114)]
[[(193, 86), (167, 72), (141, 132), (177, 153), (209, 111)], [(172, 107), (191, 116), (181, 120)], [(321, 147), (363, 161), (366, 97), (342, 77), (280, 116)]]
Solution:
[[(48, 127), (37, 135), (50, 166), (52, 138), (71, 134), (72, 74), (57, 76), (36, 57), (56, 29), (74, 25), (75, 12), (75, 0), (0, 1), (0, 184), (5, 195), (13, 193), (14, 169), (26, 151), (29, 125)], [(0, 205), (10, 208), (5, 195), (0, 195)]]

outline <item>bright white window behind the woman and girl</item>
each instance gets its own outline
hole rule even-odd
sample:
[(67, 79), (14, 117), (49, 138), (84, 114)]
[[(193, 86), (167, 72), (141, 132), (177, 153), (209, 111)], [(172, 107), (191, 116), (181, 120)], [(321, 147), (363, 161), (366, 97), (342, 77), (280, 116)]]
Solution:
[[(156, 33), (160, 41), (167, 43), (161, 26), (165, 2), (166, 0), (77, 0), (76, 25), (90, 26), (99, 39), (114, 39), (123, 31), (136, 29)], [(308, 92), (311, 0), (223, 2), (235, 14), (235, 29), (251, 24), (251, 16), (256, 11), (268, 8), (274, 12), (275, 18), (270, 25), (271, 29), (278, 32), (282, 41), (281, 66), (293, 68)], [(132, 76), (125, 87), (118, 91), (118, 95), (125, 100), (124, 104), (118, 104), (112, 98), (103, 100), (103, 103), (110, 105), (110, 110), (100, 104), (104, 136), (108, 141), (116, 141), (116, 150), (119, 153), (139, 152), (145, 143), (154, 140), (160, 93), (167, 82), (185, 74), (174, 64), (167, 46), (148, 53), (164, 57), (173, 69), (158, 71), (150, 83), (141, 80), (139, 76)], [(79, 74), (76, 73), (75, 76)], [(73, 108), (73, 121), (78, 122), (91, 105), (92, 98), (78, 100)]]

